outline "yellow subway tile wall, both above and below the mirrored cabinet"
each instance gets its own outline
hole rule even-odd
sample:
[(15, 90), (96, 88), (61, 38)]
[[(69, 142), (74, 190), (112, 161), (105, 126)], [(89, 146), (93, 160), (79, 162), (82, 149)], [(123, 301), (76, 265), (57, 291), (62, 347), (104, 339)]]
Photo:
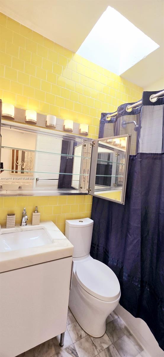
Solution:
[[(142, 88), (50, 41), (0, 13), (0, 98), (21, 109), (89, 124), (98, 138), (101, 112), (141, 99)], [(29, 221), (35, 205), (41, 220), (53, 220), (64, 232), (65, 219), (91, 215), (91, 196), (4, 197), (0, 223), (8, 212)]]

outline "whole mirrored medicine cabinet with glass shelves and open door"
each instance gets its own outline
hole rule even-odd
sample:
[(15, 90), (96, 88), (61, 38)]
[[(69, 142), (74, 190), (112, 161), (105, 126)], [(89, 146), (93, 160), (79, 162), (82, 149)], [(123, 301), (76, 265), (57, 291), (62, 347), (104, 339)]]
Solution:
[(1, 122), (0, 196), (89, 194), (124, 204), (130, 135), (92, 140)]

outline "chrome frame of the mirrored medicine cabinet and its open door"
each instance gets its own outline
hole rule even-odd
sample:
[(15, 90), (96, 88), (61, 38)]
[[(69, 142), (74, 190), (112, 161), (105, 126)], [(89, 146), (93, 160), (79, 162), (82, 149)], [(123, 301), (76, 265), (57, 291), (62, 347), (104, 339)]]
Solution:
[[(127, 181), (127, 169), (128, 169), (128, 158), (130, 152), (130, 141), (131, 134), (128, 135), (119, 135), (114, 137), (106, 137), (100, 138), (96, 140), (92, 140), (91, 138), (68, 134), (64, 132), (59, 132), (50, 129), (44, 129), (42, 127), (34, 127), (32, 125), (24, 125), (21, 123), (11, 122), (7, 120), (2, 120), (1, 122), (2, 128), (7, 129), (17, 129), (22, 132), (28, 132), (32, 134), (38, 135), (46, 135), (62, 140), (73, 141), (79, 143), (77, 146), (82, 145), (82, 155), (81, 155), (81, 166), (80, 166), (80, 181), (79, 186), (76, 189), (58, 189), (58, 188), (33, 188), (32, 190), (24, 190), (24, 191), (2, 191), (0, 188), (0, 196), (58, 196), (58, 195), (92, 195), (99, 198), (104, 198), (105, 200), (114, 201), (117, 203), (125, 203), (125, 191), (126, 191), (126, 181)], [(126, 156), (125, 156), (125, 169), (124, 169), (124, 179), (122, 186), (122, 196), (121, 201), (113, 200), (111, 198), (102, 197), (96, 195), (95, 191), (95, 179), (96, 179), (96, 168), (97, 168), (97, 155), (98, 155), (98, 143), (99, 141), (105, 141), (109, 139), (116, 139), (121, 137), (127, 137), (127, 145), (126, 145)], [(77, 147), (76, 146), (76, 147)], [(3, 146), (0, 145), (0, 150)], [(119, 151), (119, 148), (113, 148), (113, 151)], [(75, 155), (75, 154), (74, 154)], [(91, 156), (91, 159), (90, 159)], [(75, 156), (73, 157), (73, 163), (75, 161)], [(82, 180), (83, 172), (85, 172), (85, 177)], [(86, 180), (86, 172), (89, 172), (89, 180)], [(73, 171), (72, 171), (72, 179), (73, 179)], [(39, 177), (36, 178), (39, 180)], [(47, 178), (47, 180), (50, 180)], [(21, 187), (21, 186), (20, 186)], [(20, 188), (19, 187), (19, 188)]]

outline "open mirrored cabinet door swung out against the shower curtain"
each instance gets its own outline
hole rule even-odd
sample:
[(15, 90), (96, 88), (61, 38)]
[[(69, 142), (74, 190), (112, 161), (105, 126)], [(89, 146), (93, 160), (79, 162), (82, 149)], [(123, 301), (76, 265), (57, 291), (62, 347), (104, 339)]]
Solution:
[(125, 203), (131, 134), (93, 142), (89, 194)]

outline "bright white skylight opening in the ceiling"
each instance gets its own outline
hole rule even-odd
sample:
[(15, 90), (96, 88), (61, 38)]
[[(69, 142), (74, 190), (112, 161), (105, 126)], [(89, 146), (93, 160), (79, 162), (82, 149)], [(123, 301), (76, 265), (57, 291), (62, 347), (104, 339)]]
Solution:
[(77, 54), (120, 75), (158, 47), (120, 12), (108, 6)]

